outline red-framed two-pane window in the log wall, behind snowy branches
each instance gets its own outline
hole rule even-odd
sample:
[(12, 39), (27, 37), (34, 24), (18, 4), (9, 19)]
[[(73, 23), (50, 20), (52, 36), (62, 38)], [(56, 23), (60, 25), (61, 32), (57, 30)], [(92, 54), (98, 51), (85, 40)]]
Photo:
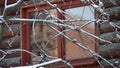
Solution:
[[(35, 19), (48, 18), (46, 20), (54, 20), (55, 18), (53, 17), (58, 17), (63, 20), (80, 19), (80, 21), (78, 22), (65, 22), (65, 24), (67, 25), (79, 26), (79, 27), (83, 26), (84, 23), (89, 22), (89, 20), (94, 20), (94, 13), (95, 13), (94, 10), (89, 5), (83, 4), (79, 0), (65, 1), (64, 3), (62, 1), (58, 1), (55, 2), (55, 4), (57, 5), (57, 7), (59, 7), (65, 12), (63, 13), (64, 15), (62, 15), (56, 9), (53, 9), (46, 4), (41, 4), (41, 5), (38, 4), (37, 5), (39, 6), (38, 12), (35, 11), (34, 5), (22, 7), (21, 16), (23, 18), (35, 18)], [(52, 15), (53, 17), (49, 18), (50, 15)], [(47, 51), (48, 54), (53, 55), (55, 57), (63, 58), (65, 60), (70, 60), (73, 63), (73, 65), (80, 64), (80, 62), (82, 63), (85, 61), (87, 61), (87, 63), (92, 63), (92, 61), (94, 61), (93, 56), (91, 54), (89, 54), (87, 51), (83, 50), (82, 48), (78, 47), (76, 44), (73, 44), (72, 42), (66, 40), (65, 37), (61, 35), (57, 36), (57, 38), (55, 38), (54, 40), (50, 41), (49, 44), (47, 44), (48, 42), (47, 40), (50, 40), (53, 36), (58, 34), (56, 31), (51, 29), (50, 26), (56, 28), (59, 31), (65, 30), (64, 27), (49, 25), (44, 22), (36, 22), (34, 24), (34, 29), (31, 28), (33, 27), (33, 24), (22, 23), (21, 47), (26, 50), (31, 50), (32, 52), (36, 50), (35, 53), (40, 56), (39, 49), (37, 50), (37, 48), (35, 48), (36, 46), (34, 46), (38, 44), (38, 46), (41, 47), (40, 49), (44, 49), (45, 51)], [(90, 23), (89, 25), (81, 28), (92, 34), (96, 34), (95, 27), (96, 26), (94, 23)], [(94, 43), (95, 39), (74, 30), (68, 30), (67, 32), (64, 33), (71, 39), (75, 38), (78, 40), (78, 42), (82, 43), (85, 46), (87, 45), (89, 48), (96, 51), (96, 46), (95, 46), (96, 44)], [(26, 56), (28, 56), (28, 58), (26, 58)], [(27, 65), (31, 61), (34, 61), (34, 60), (30, 61), (31, 57), (26, 53), (21, 53), (21, 57), (22, 57), (21, 59), (22, 65)]]

